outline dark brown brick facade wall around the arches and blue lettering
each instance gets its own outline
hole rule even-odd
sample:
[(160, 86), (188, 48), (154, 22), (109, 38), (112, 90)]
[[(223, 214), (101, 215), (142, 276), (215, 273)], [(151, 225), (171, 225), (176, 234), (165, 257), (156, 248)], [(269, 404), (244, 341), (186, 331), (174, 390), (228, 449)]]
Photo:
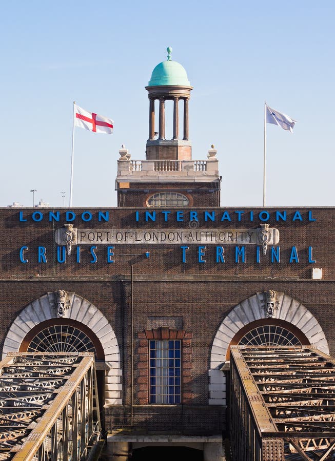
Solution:
[[(237, 212), (244, 211), (243, 214)], [(271, 245), (267, 254), (257, 244), (245, 244), (245, 262), (235, 262), (235, 247), (241, 243), (187, 244), (183, 263), (182, 243), (113, 244), (113, 263), (108, 263), (108, 244), (73, 244), (65, 263), (57, 262), (55, 231), (66, 223), (66, 210), (1, 209), (0, 289), (2, 293), (1, 344), (9, 328), (25, 306), (47, 292), (64, 289), (88, 300), (101, 311), (111, 325), (120, 348), (122, 405), (107, 405), (105, 427), (112, 430), (130, 426), (131, 405), (131, 306), (133, 310), (133, 426), (143, 432), (171, 431), (185, 434), (218, 434), (226, 429), (225, 406), (209, 405), (209, 370), (213, 341), (222, 322), (239, 303), (267, 289), (282, 292), (298, 300), (322, 327), (329, 351), (335, 354), (333, 306), (335, 304), (333, 264), (335, 228), (334, 208), (281, 208), (286, 221), (276, 216), (277, 208), (269, 208), (270, 227), (279, 231), (280, 262), (271, 262)], [(34, 221), (32, 213), (43, 213)], [(59, 222), (49, 221), (49, 212), (60, 212)], [(169, 209), (168, 215), (156, 209), (155, 221), (146, 220), (142, 207), (110, 208), (109, 221), (99, 221), (98, 209), (71, 210), (72, 222), (81, 229), (148, 229), (160, 231), (183, 229), (190, 232), (190, 211), (196, 212), (197, 231), (219, 229), (255, 229), (262, 221), (263, 208)], [(177, 212), (183, 214), (177, 215)], [(205, 220), (205, 212), (215, 221)], [(299, 215), (297, 215), (299, 211)], [(20, 215), (22, 219), (20, 221)], [(89, 214), (85, 214), (89, 212)], [(139, 212), (136, 215), (136, 212)], [(251, 221), (251, 212), (253, 220)], [(90, 218), (89, 221), (82, 219)], [(150, 213), (152, 210), (150, 209)], [(224, 214), (226, 213), (226, 214)], [(138, 219), (136, 218), (138, 216)], [(152, 216), (152, 215), (151, 215)], [(179, 216), (179, 218), (177, 217)], [(223, 216), (226, 218), (222, 220)], [(229, 219), (228, 219), (229, 216)], [(263, 218), (265, 215), (261, 215)], [(300, 216), (300, 217), (299, 217)], [(41, 215), (35, 215), (38, 219)], [(165, 218), (167, 217), (167, 221)], [(295, 217), (295, 219), (294, 219)], [(298, 218), (297, 218), (298, 217)], [(301, 218), (301, 219), (300, 219)], [(240, 219), (240, 220), (239, 220)], [(294, 219), (294, 220), (293, 220)], [(115, 231), (116, 232), (116, 231)], [(26, 246), (24, 259), (20, 248)], [(81, 246), (81, 260), (76, 260), (76, 247)], [(90, 251), (96, 246), (96, 262)], [(186, 245), (185, 245), (186, 246)], [(199, 246), (205, 256), (199, 262)], [(216, 247), (224, 247), (225, 262), (216, 262)], [(38, 247), (45, 247), (46, 262), (38, 263)], [(290, 262), (292, 247), (298, 259)], [(312, 250), (309, 250), (309, 248)], [(309, 253), (312, 251), (312, 254)], [(145, 253), (150, 252), (149, 258)], [(316, 262), (311, 262), (316, 261)], [(312, 268), (323, 270), (321, 280), (312, 279)], [(170, 334), (183, 335), (182, 405), (148, 404), (148, 339)], [(185, 333), (185, 334), (184, 334)], [(221, 371), (219, 371), (222, 373)]]

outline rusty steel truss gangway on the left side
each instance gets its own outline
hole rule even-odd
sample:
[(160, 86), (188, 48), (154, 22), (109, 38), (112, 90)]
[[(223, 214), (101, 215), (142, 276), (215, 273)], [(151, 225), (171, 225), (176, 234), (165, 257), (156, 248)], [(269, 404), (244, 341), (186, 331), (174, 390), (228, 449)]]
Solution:
[(0, 362), (0, 460), (90, 459), (100, 431), (93, 353), (11, 352)]

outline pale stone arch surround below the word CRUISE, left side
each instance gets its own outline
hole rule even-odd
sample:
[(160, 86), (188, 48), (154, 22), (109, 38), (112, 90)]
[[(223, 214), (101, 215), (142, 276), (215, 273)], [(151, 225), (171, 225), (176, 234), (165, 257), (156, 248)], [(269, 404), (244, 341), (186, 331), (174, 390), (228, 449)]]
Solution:
[[(72, 319), (90, 328), (100, 341), (104, 351), (106, 366), (105, 406), (121, 405), (122, 369), (119, 345), (113, 328), (103, 313), (86, 299), (69, 291), (66, 298), (68, 308), (65, 310), (64, 321)], [(4, 359), (8, 352), (18, 351), (24, 338), (32, 328), (42, 322), (57, 318), (53, 291), (28, 304), (18, 314), (8, 330), (2, 358)]]

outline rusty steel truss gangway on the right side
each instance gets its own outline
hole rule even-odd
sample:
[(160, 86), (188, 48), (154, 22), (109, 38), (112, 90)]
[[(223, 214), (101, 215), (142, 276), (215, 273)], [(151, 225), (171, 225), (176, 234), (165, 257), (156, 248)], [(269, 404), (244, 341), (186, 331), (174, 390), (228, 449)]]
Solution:
[(232, 346), (234, 461), (335, 459), (335, 361), (312, 346)]

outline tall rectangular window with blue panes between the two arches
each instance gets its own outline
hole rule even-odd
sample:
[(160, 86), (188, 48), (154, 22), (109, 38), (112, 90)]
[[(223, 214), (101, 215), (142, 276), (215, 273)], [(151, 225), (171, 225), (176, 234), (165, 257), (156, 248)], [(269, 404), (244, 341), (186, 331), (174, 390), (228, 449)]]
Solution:
[(150, 403), (181, 403), (181, 341), (150, 340)]

